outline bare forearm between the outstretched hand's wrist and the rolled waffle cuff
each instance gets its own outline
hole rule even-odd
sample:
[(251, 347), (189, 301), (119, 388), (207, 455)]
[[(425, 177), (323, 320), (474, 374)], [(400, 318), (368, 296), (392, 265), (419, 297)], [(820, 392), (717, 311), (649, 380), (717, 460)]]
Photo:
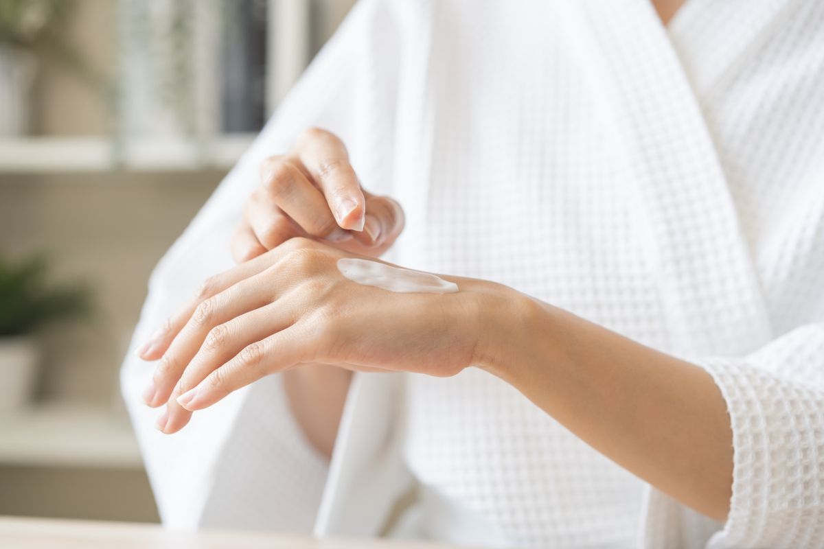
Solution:
[(733, 435), (709, 374), (574, 314), (521, 303), (519, 333), (503, 339), (514, 344), (485, 367), (622, 467), (725, 519)]

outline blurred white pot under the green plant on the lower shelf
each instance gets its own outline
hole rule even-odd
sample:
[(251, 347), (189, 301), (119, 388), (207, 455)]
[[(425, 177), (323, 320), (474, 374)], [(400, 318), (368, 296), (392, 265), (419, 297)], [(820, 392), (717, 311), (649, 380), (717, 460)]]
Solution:
[(40, 347), (33, 337), (0, 337), (0, 413), (31, 401), (39, 362)]

